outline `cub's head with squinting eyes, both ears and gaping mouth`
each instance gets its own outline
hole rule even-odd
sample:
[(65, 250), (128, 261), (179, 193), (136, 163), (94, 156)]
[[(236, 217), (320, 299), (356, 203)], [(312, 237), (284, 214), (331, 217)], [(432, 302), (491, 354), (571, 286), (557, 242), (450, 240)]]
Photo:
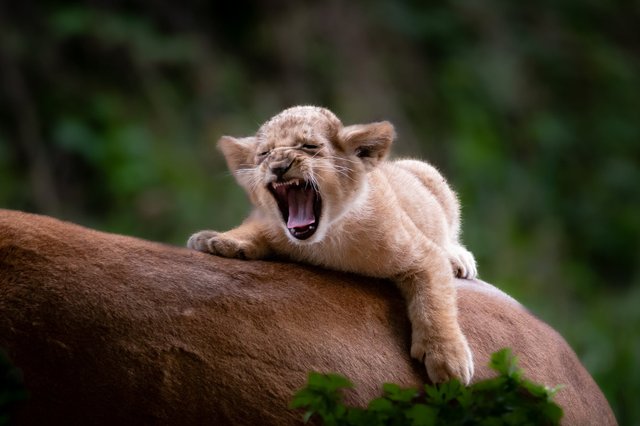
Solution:
[(314, 242), (352, 207), (394, 137), (386, 121), (345, 127), (327, 109), (297, 106), (218, 147), (258, 209), (293, 241)]

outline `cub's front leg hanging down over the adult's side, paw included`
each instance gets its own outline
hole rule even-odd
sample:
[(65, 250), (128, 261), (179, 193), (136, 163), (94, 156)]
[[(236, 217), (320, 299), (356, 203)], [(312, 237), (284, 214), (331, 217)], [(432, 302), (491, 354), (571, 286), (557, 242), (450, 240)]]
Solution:
[(449, 259), (435, 245), (426, 247), (420, 259), (416, 269), (395, 280), (407, 302), (411, 356), (424, 362), (434, 383), (457, 378), (468, 384), (473, 377), (473, 356), (458, 324)]

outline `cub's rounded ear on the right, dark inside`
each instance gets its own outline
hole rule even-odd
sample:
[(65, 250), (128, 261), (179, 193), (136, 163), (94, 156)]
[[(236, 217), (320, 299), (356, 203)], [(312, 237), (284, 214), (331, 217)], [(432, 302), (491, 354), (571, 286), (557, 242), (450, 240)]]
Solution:
[(395, 137), (393, 125), (388, 121), (347, 126), (338, 133), (342, 146), (358, 156), (367, 170), (384, 160)]

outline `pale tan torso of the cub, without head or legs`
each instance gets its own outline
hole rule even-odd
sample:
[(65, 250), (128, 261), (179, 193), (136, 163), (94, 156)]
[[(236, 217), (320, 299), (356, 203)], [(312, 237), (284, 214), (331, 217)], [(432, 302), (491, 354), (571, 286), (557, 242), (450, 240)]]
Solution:
[[(460, 249), (459, 209), (442, 177), (437, 181), (442, 188), (425, 185), (433, 183), (436, 174), (441, 177), (424, 162), (385, 161), (365, 176), (360, 193), (320, 241), (299, 244), (284, 232), (270, 232), (267, 242), (275, 253), (292, 260), (378, 278), (394, 277), (416, 262), (429, 261), (413, 255), (424, 244), (432, 243), (444, 257), (453, 258), (454, 250)], [(268, 219), (259, 226), (281, 228)], [(467, 260), (465, 265), (474, 268), (473, 260)]]

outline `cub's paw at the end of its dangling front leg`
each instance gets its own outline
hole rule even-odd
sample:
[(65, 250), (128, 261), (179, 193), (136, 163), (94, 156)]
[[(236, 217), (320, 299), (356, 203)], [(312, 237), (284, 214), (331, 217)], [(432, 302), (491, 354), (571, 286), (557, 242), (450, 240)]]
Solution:
[(433, 383), (443, 383), (455, 378), (468, 385), (473, 377), (473, 355), (462, 333), (455, 338), (439, 341), (414, 338), (411, 356), (424, 361), (429, 379)]

